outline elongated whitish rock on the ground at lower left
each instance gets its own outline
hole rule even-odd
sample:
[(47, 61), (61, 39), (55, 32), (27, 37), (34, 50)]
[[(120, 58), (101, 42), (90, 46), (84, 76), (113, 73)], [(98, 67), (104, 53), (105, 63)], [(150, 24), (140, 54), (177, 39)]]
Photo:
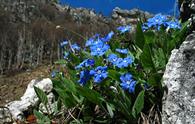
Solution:
[(22, 120), (24, 118), (23, 112), (34, 108), (38, 104), (39, 99), (34, 91), (34, 86), (42, 89), (47, 94), (49, 94), (53, 88), (52, 81), (49, 78), (32, 80), (26, 92), (21, 97), (21, 100), (13, 101), (5, 105), (9, 108), (14, 120)]

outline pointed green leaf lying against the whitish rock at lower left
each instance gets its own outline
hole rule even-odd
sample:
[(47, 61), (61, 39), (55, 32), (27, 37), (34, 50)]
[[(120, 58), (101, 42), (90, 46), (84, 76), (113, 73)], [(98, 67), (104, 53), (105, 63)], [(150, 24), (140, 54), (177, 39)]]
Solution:
[(39, 89), (38, 87), (34, 86), (34, 90), (39, 98), (39, 100), (44, 104), (47, 105), (48, 103), (48, 98), (47, 95), (45, 94), (45, 92), (41, 89)]

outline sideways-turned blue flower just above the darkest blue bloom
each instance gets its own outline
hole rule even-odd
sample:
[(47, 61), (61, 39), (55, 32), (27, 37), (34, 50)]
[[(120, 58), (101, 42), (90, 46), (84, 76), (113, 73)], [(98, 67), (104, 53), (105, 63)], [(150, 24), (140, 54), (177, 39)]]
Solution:
[(79, 65), (75, 67), (75, 69), (80, 69), (84, 67), (94, 66), (95, 60), (94, 59), (85, 59), (83, 62), (81, 62)]

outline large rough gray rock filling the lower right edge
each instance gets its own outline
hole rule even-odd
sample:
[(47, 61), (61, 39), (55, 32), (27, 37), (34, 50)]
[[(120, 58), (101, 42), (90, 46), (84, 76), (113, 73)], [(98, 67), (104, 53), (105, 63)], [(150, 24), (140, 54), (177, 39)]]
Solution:
[(195, 123), (195, 33), (172, 51), (163, 76), (163, 124)]

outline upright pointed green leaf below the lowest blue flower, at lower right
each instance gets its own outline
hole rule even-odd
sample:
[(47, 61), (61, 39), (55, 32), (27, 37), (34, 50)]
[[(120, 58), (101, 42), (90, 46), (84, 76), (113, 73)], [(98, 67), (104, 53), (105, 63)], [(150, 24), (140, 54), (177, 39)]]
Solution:
[(132, 115), (137, 118), (144, 107), (144, 90), (139, 93), (132, 108)]

